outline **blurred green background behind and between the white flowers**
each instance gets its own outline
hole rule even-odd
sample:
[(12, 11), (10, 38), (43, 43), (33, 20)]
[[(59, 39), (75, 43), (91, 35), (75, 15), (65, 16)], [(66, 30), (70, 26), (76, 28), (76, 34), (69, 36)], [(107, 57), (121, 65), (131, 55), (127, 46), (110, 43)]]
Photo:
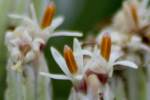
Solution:
[[(34, 3), (38, 19), (43, 14), (43, 9), (50, 0), (0, 0), (0, 100), (4, 100), (6, 88), (6, 63), (7, 49), (4, 45), (5, 32), (19, 22), (8, 18), (9, 13), (27, 14), (29, 5)], [(55, 16), (63, 15), (64, 23), (58, 30), (75, 30), (84, 33), (84, 39), (88, 34), (96, 35), (100, 26), (113, 16), (121, 7), (123, 0), (53, 0), (57, 7)], [(45, 48), (45, 57), (52, 73), (62, 73), (49, 51), (50, 46), (63, 50), (64, 44), (72, 45), (72, 39), (68, 37), (51, 38)], [(59, 40), (59, 41), (58, 41)], [(71, 83), (68, 81), (52, 80), (54, 99), (67, 100)]]

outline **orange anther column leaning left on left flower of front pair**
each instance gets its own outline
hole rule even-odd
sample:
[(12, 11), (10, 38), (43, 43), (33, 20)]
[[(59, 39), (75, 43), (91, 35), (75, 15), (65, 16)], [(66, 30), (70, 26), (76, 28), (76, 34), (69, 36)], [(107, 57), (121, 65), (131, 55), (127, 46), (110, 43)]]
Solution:
[(71, 48), (67, 45), (64, 47), (64, 58), (66, 60), (68, 69), (72, 74), (76, 74), (77, 72), (77, 64), (73, 55)]

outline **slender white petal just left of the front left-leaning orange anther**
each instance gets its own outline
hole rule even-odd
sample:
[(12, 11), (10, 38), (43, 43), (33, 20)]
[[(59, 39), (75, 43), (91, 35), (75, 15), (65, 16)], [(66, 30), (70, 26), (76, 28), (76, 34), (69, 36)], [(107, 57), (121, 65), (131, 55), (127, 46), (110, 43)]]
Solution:
[(67, 64), (61, 54), (53, 47), (51, 47), (52, 56), (61, 68), (61, 70), (68, 76), (71, 76), (71, 73), (67, 67)]

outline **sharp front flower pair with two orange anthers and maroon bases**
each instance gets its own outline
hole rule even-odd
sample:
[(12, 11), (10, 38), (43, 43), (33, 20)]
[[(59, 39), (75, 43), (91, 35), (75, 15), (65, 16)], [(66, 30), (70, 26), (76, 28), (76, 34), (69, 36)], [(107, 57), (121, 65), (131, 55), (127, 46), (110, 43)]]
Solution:
[[(95, 45), (93, 51), (82, 49), (80, 42), (74, 39), (73, 51), (67, 45), (64, 46), (64, 58), (54, 47), (51, 47), (51, 52), (65, 75), (45, 72), (41, 72), (41, 75), (70, 80), (73, 84), (70, 100), (75, 100), (77, 97), (79, 100), (103, 98), (105, 86), (112, 77), (114, 66), (137, 68), (133, 62), (118, 60), (121, 55), (111, 52), (111, 37), (108, 33), (102, 34), (101, 44)], [(85, 61), (86, 56), (89, 57), (88, 61)]]

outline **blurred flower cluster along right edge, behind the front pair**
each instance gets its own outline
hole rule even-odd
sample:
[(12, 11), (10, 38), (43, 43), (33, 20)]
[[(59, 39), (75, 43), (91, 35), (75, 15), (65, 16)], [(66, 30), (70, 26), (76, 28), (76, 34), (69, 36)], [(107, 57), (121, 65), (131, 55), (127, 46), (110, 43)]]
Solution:
[[(112, 24), (102, 30), (102, 33), (111, 33), (112, 52), (117, 51), (122, 54), (122, 58), (134, 61), (139, 66), (139, 69), (135, 72), (131, 70), (126, 71), (126, 73), (124, 73), (126, 76), (123, 78), (127, 80), (127, 83), (122, 82), (123, 84), (121, 84), (122, 87), (126, 86), (128, 89), (126, 92), (128, 92), (128, 99), (130, 100), (139, 99), (137, 95), (142, 94), (139, 90), (140, 88), (146, 92), (143, 97), (145, 97), (146, 100), (150, 98), (148, 95), (148, 87), (150, 86), (149, 11), (149, 0), (124, 1), (122, 9), (114, 16)], [(97, 41), (99, 41), (101, 37), (100, 34)], [(142, 72), (142, 70), (145, 70), (146, 73)], [(144, 76), (143, 82), (141, 82), (141, 78), (137, 77), (137, 75)], [(128, 78), (129, 76), (130, 78)], [(144, 86), (146, 89), (143, 88)], [(117, 87), (118, 86), (116, 86), (116, 88)]]

